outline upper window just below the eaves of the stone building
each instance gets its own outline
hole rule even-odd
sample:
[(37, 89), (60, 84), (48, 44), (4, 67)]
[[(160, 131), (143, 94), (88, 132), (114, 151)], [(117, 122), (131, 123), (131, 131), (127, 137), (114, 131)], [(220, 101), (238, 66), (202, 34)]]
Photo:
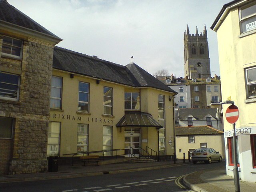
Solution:
[(2, 55), (13, 58), (22, 56), (22, 40), (4, 36), (2, 45)]

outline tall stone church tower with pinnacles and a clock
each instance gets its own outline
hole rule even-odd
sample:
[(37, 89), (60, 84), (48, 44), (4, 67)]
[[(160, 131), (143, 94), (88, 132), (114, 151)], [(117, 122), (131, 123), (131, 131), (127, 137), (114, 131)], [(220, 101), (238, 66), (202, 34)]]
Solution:
[(189, 28), (184, 32), (184, 74), (189, 79), (206, 79), (211, 76), (207, 30), (190, 34)]

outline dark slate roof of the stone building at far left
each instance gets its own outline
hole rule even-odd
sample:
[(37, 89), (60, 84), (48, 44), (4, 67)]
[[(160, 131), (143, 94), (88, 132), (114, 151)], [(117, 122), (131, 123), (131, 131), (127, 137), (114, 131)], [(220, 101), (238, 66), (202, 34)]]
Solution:
[(7, 0), (0, 0), (0, 22), (8, 22), (17, 26), (28, 28), (60, 39), (52, 32), (20, 12), (14, 6), (10, 5)]

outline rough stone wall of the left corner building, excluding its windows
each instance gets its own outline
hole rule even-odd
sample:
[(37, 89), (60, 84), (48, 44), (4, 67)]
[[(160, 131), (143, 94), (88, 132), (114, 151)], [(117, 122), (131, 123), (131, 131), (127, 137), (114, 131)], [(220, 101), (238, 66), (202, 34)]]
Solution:
[(22, 60), (0, 58), (2, 69), (20, 75), (19, 100), (0, 99), (0, 116), (15, 122), (9, 174), (47, 171), (52, 58), (53, 45), (32, 38), (23, 42)]

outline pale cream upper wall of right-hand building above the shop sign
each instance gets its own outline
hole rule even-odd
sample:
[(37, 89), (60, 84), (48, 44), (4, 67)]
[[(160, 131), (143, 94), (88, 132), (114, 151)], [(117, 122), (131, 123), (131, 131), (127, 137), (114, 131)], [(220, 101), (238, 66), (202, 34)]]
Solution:
[[(252, 126), (255, 123), (256, 113), (254, 104), (246, 104), (246, 87), (244, 68), (256, 66), (256, 34), (248, 36), (240, 35), (238, 9), (231, 10), (225, 20), (222, 21), (217, 31), (218, 51), (220, 60), (220, 76), (222, 86), (222, 101), (235, 102), (240, 114), (236, 127)], [(228, 105), (223, 105), (223, 114)], [(231, 130), (224, 118), (224, 129)]]

